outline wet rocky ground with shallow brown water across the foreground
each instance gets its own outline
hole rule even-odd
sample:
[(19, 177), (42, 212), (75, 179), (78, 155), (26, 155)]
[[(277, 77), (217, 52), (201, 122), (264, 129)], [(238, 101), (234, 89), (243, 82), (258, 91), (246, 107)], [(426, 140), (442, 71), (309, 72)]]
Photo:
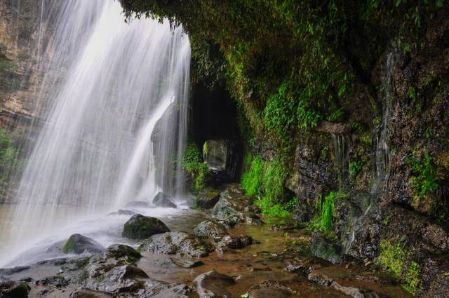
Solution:
[[(197, 204), (208, 209), (182, 219), (184, 231), (121, 210), (134, 248), (74, 234), (48, 248), (69, 257), (1, 269), (0, 297), (408, 297), (375, 264), (340, 258), (325, 237), (264, 222), (239, 185)], [(328, 260), (312, 256), (320, 254)]]

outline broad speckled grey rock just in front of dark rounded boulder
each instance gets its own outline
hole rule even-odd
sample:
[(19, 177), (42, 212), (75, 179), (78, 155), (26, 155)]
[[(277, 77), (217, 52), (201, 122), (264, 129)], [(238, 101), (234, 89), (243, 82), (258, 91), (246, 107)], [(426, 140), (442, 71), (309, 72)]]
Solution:
[(140, 245), (142, 252), (184, 257), (206, 257), (210, 244), (201, 238), (185, 232), (168, 232), (150, 237)]

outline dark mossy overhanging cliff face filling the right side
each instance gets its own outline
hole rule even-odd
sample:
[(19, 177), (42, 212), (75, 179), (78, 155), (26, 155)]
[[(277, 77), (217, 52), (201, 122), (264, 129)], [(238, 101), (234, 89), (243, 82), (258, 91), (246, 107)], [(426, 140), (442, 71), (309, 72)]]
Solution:
[(243, 187), (267, 214), (295, 203), (297, 220), (410, 293), (448, 294), (447, 4), (121, 2), (181, 22), (194, 83), (227, 86), (246, 143)]

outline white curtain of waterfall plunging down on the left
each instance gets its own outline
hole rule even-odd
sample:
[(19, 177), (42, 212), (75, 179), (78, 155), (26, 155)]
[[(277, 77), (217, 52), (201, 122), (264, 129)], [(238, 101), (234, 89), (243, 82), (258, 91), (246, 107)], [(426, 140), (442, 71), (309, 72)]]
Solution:
[[(0, 266), (23, 263), (11, 260), (72, 232), (123, 224), (99, 214), (130, 201), (151, 202), (159, 190), (182, 196), (179, 158), (169, 158), (181, 155), (187, 126), (190, 45), (182, 28), (155, 20), (126, 23), (112, 0), (50, 1), (42, 11), (57, 11), (51, 42), (37, 51), (49, 56), (36, 94), (48, 112), (27, 158), (18, 203), (0, 226)], [(96, 240), (110, 244), (119, 237), (113, 234)]]

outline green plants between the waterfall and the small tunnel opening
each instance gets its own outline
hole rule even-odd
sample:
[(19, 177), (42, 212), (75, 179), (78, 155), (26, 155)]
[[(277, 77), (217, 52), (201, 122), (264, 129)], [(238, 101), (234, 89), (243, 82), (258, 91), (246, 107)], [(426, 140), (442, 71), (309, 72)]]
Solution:
[(206, 178), (209, 172), (209, 166), (203, 161), (203, 154), (194, 143), (187, 145), (182, 167), (194, 180), (194, 187), (200, 192), (206, 187)]

